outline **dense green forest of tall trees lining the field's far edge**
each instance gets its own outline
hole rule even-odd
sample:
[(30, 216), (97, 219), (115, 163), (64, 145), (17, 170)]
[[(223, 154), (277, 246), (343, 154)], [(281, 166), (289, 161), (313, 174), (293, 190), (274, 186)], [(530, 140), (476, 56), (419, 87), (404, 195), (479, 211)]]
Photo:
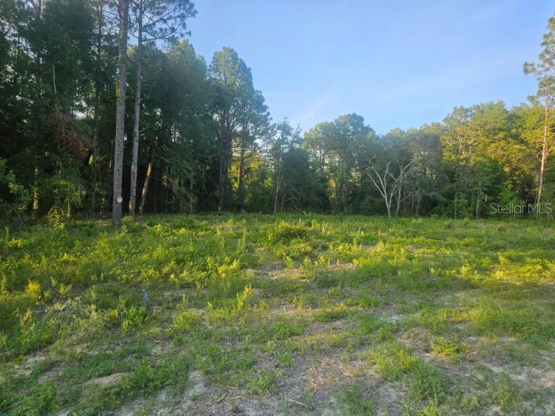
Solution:
[(535, 96), (382, 135), (356, 114), (304, 133), (273, 120), (238, 53), (224, 47), (208, 63), (194, 51), (196, 13), (188, 0), (0, 2), (2, 222), (216, 210), (460, 218), (555, 202), (555, 17), (538, 63), (524, 64)]

